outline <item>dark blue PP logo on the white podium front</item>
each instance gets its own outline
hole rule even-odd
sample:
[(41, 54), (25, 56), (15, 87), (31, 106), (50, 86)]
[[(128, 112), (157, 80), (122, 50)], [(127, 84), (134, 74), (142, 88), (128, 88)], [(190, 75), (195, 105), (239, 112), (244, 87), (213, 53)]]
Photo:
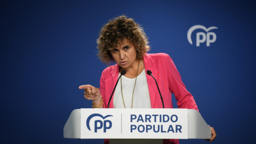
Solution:
[(101, 117), (103, 119), (103, 121), (101, 120), (95, 120), (94, 121), (94, 132), (98, 132), (98, 130), (102, 129), (103, 128), (103, 132), (107, 132), (108, 129), (110, 129), (112, 127), (112, 122), (110, 120), (104, 120), (105, 118), (107, 117), (110, 117), (110, 116), (113, 116), (113, 115), (107, 115), (105, 117), (103, 117), (102, 115), (100, 114), (92, 114), (90, 115), (88, 118), (87, 118), (87, 121), (86, 121), (86, 126), (87, 126), (87, 129), (89, 131), (91, 131), (91, 128), (90, 128), (90, 121), (93, 117)]

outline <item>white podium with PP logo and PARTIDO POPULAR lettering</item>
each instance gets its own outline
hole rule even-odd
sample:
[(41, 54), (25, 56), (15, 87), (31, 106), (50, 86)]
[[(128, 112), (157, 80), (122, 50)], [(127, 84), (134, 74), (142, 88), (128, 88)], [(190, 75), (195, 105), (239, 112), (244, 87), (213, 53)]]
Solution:
[(64, 138), (110, 139), (110, 143), (162, 143), (162, 139), (211, 139), (211, 129), (194, 109), (75, 109)]

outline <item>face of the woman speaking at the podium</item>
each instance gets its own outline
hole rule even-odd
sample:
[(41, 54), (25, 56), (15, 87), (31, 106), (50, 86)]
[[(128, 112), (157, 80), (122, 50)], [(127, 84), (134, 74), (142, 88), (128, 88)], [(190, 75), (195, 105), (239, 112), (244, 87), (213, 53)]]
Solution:
[[(134, 62), (137, 57), (136, 48), (129, 40), (124, 39), (123, 42), (119, 41), (119, 45), (110, 52), (117, 65), (123, 69), (127, 70), (135, 66)], [(137, 68), (137, 66), (135, 67)]]

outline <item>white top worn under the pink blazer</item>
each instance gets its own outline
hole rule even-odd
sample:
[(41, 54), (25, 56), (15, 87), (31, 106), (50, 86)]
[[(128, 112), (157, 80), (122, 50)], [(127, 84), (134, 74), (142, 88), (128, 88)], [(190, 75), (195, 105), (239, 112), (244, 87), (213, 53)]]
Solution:
[[(118, 77), (121, 74), (119, 73)], [(135, 83), (135, 78), (127, 78), (122, 76), (122, 86), (123, 86), (123, 97), (121, 92), (121, 79), (116, 86), (114, 93), (113, 104), (114, 108), (124, 108), (124, 103), (126, 108), (131, 108), (132, 106), (132, 92)], [(137, 76), (137, 81), (133, 94), (133, 106), (132, 108), (151, 108), (148, 83), (146, 78), (145, 69)]]

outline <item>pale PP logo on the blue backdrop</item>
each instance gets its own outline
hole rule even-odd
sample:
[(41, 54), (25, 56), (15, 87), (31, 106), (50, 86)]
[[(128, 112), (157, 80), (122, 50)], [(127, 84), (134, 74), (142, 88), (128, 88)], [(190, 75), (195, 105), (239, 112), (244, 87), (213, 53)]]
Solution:
[(216, 39), (217, 39), (216, 34), (213, 32), (208, 32), (208, 31), (210, 31), (212, 29), (218, 29), (217, 27), (206, 28), (201, 25), (195, 25), (188, 30), (187, 37), (188, 37), (188, 42), (190, 44), (193, 44), (192, 39), (191, 39), (191, 34), (196, 29), (203, 29), (206, 32), (206, 33), (204, 33), (204, 32), (196, 33), (196, 46), (200, 46), (200, 43), (204, 43), (205, 41), (206, 41), (206, 46), (210, 46), (210, 43), (214, 43), (216, 41)]

